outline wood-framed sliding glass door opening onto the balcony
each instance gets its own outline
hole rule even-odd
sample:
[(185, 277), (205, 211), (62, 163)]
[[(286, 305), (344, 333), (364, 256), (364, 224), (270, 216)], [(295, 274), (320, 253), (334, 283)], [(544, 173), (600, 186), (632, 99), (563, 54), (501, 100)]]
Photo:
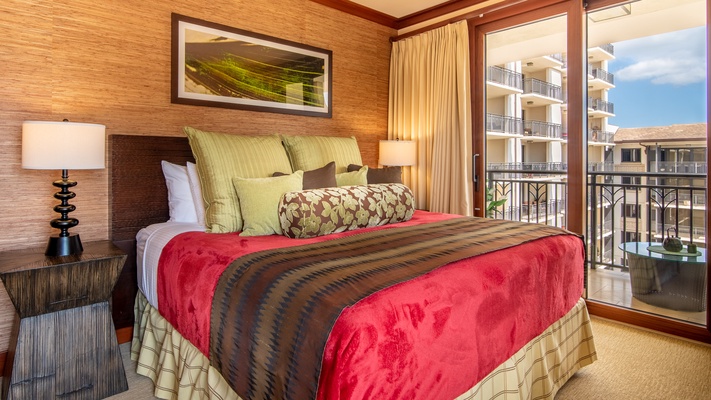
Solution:
[(711, 342), (707, 2), (549, 1), (470, 26), (479, 215), (583, 234), (591, 313)]

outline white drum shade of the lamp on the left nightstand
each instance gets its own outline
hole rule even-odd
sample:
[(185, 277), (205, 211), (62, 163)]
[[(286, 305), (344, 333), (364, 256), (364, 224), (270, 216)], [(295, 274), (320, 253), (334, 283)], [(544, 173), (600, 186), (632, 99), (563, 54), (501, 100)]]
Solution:
[(22, 168), (102, 169), (106, 127), (77, 122), (22, 123)]

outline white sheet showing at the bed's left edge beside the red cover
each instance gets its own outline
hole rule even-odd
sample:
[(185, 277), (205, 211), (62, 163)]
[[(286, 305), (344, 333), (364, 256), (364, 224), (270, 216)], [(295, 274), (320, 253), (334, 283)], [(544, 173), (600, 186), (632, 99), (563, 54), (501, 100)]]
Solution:
[(184, 232), (204, 232), (205, 226), (192, 222), (161, 222), (136, 234), (136, 269), (138, 289), (148, 302), (158, 308), (158, 260), (170, 239)]

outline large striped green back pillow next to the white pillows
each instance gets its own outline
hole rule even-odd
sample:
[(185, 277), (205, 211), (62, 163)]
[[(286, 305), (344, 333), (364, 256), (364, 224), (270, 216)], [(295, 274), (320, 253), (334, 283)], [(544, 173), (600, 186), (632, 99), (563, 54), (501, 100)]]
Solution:
[(233, 178), (265, 178), (274, 171), (291, 172), (278, 136), (228, 135), (187, 126), (183, 131), (190, 140), (200, 176), (208, 232), (242, 230)]

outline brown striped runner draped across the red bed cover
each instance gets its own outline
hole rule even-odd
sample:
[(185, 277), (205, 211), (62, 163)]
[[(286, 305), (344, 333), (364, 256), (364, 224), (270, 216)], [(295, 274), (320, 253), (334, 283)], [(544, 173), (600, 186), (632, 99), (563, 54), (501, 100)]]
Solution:
[(240, 257), (215, 292), (211, 363), (245, 399), (315, 398), (323, 350), (345, 307), (448, 263), (562, 234), (570, 233), (455, 218)]

